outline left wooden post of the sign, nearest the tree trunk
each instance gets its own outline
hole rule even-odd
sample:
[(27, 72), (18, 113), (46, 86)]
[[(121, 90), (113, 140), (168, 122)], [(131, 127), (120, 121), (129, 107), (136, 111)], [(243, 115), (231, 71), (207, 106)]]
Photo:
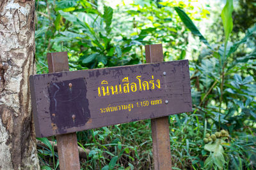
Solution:
[[(49, 73), (69, 71), (67, 52), (47, 53)], [(60, 170), (79, 170), (76, 132), (57, 135)]]

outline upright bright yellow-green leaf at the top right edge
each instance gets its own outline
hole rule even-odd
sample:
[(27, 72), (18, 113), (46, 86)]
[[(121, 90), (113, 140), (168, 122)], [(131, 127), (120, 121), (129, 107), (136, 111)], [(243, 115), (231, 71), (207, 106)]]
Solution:
[(223, 10), (221, 11), (221, 18), (223, 21), (224, 32), (225, 32), (225, 45), (227, 45), (229, 35), (233, 29), (232, 11), (233, 11), (233, 0), (227, 0)]

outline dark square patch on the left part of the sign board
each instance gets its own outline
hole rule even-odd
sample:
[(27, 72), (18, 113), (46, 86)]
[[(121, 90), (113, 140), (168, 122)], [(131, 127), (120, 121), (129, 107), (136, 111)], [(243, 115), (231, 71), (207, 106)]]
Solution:
[(65, 134), (66, 129), (88, 122), (91, 115), (83, 78), (51, 83), (48, 91), (53, 131)]

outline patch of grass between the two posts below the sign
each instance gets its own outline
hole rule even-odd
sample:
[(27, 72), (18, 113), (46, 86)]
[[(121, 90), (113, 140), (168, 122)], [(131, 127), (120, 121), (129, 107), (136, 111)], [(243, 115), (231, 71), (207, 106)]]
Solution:
[[(89, 131), (90, 135), (77, 132), (79, 146), (90, 148), (89, 160), (82, 166), (86, 169), (134, 169), (134, 162), (136, 161), (138, 162), (136, 167), (143, 169), (148, 162), (143, 160), (142, 155), (150, 153), (148, 124), (147, 121), (145, 124), (132, 122), (102, 127)], [(147, 133), (143, 134), (145, 129)], [(143, 138), (136, 138), (137, 134), (141, 134)], [(88, 141), (84, 141), (88, 137)], [(123, 141), (127, 142), (124, 143)], [(131, 143), (136, 143), (136, 145), (132, 146)], [(138, 151), (139, 147), (140, 151)]]

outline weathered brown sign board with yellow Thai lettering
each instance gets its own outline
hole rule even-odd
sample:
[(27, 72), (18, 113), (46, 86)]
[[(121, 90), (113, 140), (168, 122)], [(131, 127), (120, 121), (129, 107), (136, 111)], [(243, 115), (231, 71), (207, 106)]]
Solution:
[(188, 60), (29, 77), (36, 137), (192, 110)]

